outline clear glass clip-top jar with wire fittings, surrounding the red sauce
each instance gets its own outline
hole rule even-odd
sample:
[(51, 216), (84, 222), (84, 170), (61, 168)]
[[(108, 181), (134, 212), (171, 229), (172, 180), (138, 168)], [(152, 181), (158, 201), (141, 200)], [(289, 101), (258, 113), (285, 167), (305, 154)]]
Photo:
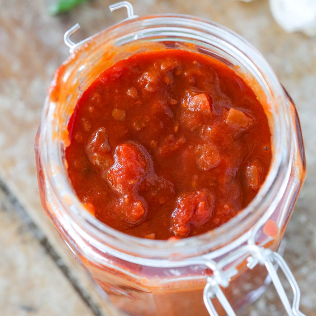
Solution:
[[(71, 54), (48, 89), (35, 142), (44, 210), (122, 313), (222, 315), (226, 310), (234, 315), (233, 309), (262, 293), (268, 272), (290, 313), (273, 263), (279, 263), (294, 284), (297, 304), (297, 284), (275, 252), (305, 178), (304, 146), (293, 101), (260, 53), (225, 27), (187, 15), (138, 18), (129, 4), (123, 6), (128, 19), (77, 45), (69, 36), (78, 26), (65, 34)], [(99, 74), (137, 52), (168, 48), (212, 56), (242, 77), (264, 107), (273, 151), (268, 176), (244, 210), (221, 227), (179, 241), (141, 239), (99, 222), (77, 198), (64, 155), (70, 116)], [(293, 308), (298, 310), (298, 305)]]

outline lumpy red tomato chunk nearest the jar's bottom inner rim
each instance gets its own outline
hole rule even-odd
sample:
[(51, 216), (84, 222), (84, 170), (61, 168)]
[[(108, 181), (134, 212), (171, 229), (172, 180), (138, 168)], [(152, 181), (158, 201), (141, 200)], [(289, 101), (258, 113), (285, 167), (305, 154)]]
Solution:
[(207, 189), (179, 197), (178, 206), (172, 214), (172, 231), (176, 236), (186, 237), (190, 226), (203, 225), (210, 219), (213, 208), (214, 196)]

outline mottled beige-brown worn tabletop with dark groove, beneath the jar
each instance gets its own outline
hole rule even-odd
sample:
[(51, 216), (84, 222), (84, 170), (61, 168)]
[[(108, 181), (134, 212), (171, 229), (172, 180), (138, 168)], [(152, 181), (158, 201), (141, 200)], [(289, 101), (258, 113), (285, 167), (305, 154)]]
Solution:
[[(51, 1), (0, 0), (0, 311), (3, 315), (110, 315), (89, 276), (41, 209), (33, 142), (46, 88), (67, 58), (64, 32), (76, 22), (84, 39), (125, 18), (113, 1), (91, 0), (70, 13), (48, 14)], [(301, 310), (316, 315), (316, 42), (288, 34), (268, 1), (133, 1), (135, 13), (184, 13), (216, 21), (265, 56), (296, 102), (307, 179), (286, 231), (284, 258), (301, 288)], [(290, 288), (287, 286), (290, 293)], [(243, 315), (285, 315), (272, 286)], [(193, 315), (193, 314), (192, 314)]]

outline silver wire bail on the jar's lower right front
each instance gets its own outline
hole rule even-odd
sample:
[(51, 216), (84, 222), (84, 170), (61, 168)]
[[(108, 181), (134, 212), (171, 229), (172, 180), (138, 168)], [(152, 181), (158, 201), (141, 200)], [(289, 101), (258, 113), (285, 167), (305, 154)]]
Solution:
[[(233, 262), (238, 257), (240, 258), (240, 260), (238, 262), (235, 262), (234, 267), (239, 264), (241, 260), (245, 260), (245, 257), (247, 260), (247, 267), (249, 269), (253, 269), (257, 264), (265, 265), (288, 315), (306, 316), (299, 310), (301, 296), (300, 289), (291, 270), (289, 269), (289, 266), (285, 263), (282, 256), (280, 256), (277, 252), (270, 250), (269, 248), (264, 248), (251, 244), (243, 246), (237, 249), (235, 252), (229, 254), (227, 257), (223, 258), (220, 262), (216, 264), (215, 270), (213, 270), (213, 276), (210, 276), (207, 279), (207, 284), (203, 292), (203, 299), (204, 304), (211, 316), (218, 316), (218, 313), (216, 312), (216, 309), (212, 303), (212, 299), (215, 297), (221, 303), (228, 316), (236, 316), (233, 308), (225, 297), (220, 286), (222, 286), (223, 288), (228, 287), (231, 277), (238, 274), (238, 271), (235, 268), (224, 270), (224, 268), (227, 267), (229, 263)], [(281, 280), (276, 273), (274, 264), (278, 264), (279, 268), (283, 271), (284, 275), (286, 276), (292, 287), (292, 306), (285, 293)]]

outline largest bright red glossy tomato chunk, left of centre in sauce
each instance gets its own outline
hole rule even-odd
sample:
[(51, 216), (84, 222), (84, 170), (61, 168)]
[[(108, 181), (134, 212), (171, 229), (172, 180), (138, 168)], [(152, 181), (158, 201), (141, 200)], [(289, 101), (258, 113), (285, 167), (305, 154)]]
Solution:
[(107, 173), (107, 179), (116, 191), (126, 194), (144, 179), (148, 170), (146, 149), (135, 142), (127, 142), (115, 149), (114, 164)]

